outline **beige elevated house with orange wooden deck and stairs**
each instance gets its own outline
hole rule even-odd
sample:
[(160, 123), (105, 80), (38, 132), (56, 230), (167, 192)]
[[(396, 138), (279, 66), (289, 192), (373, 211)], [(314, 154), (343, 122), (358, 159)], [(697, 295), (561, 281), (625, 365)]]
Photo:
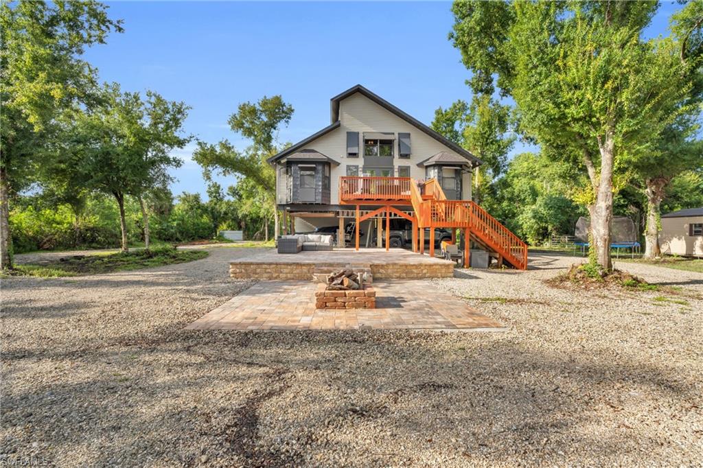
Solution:
[[(498, 254), (499, 261), (510, 257), (513, 266), (527, 264), (527, 246), (471, 201), (472, 171), (482, 162), (361, 85), (330, 100), (328, 126), (269, 158), (269, 163), (276, 171), (284, 232), (321, 226), (342, 231), (352, 223), (359, 249), (369, 245), (373, 232), (377, 245), (383, 245), (389, 219), (403, 218), (413, 223), (413, 250), (423, 252), (429, 228), (434, 254), (433, 228), (449, 228), (453, 238), (456, 229), (468, 233), (470, 217), (480, 211), (481, 219), (473, 219), (474, 240), (491, 230), (494, 238), (484, 243), (495, 241), (507, 249)], [(366, 238), (360, 239), (359, 223), (367, 220)], [(337, 237), (344, 242), (343, 235)], [(386, 247), (388, 243), (386, 239)]]

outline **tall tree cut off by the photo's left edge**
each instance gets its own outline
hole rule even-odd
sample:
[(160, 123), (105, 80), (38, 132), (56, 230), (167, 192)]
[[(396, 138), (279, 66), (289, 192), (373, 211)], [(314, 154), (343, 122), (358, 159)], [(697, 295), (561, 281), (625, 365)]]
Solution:
[(8, 197), (34, 180), (56, 115), (90, 99), (95, 70), (78, 57), (110, 31), (121, 21), (96, 1), (0, 5), (0, 268), (12, 268)]

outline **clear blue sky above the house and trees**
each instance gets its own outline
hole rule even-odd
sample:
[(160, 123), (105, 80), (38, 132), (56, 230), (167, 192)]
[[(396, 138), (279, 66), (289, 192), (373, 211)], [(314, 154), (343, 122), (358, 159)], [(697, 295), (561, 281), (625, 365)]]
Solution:
[[(430, 124), (434, 110), (470, 100), (469, 74), (447, 34), (451, 3), (108, 2), (124, 33), (91, 48), (103, 81), (153, 89), (192, 110), (186, 131), (215, 143), (247, 141), (227, 126), (237, 105), (280, 94), (295, 108), (278, 136), (295, 143), (328, 125), (330, 98), (354, 84)], [(664, 3), (647, 35), (666, 34), (676, 4)], [(516, 145), (513, 154), (524, 150)], [(177, 152), (174, 195), (205, 198), (193, 145)], [(233, 178), (220, 178), (226, 186)]]

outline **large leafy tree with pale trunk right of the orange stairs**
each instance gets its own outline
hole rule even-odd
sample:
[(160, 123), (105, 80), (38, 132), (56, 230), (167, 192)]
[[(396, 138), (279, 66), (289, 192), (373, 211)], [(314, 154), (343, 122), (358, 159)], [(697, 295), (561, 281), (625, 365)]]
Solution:
[[(656, 2), (457, 1), (451, 39), (482, 92), (493, 77), (522, 134), (588, 174), (592, 261), (612, 270), (614, 179), (654, 145), (692, 86), (671, 39), (643, 41)], [(555, 151), (558, 150), (558, 151)]]

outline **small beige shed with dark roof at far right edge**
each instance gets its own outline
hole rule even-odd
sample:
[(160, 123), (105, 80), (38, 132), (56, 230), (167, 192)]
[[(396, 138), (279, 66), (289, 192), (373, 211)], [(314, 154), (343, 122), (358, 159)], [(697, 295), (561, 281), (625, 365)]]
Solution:
[(703, 256), (703, 207), (662, 215), (659, 247), (662, 254)]

